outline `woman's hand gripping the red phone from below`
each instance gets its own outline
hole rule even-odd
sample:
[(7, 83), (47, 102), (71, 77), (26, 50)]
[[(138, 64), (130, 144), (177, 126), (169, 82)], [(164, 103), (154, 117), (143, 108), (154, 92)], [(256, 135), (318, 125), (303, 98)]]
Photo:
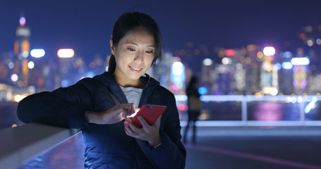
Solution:
[(137, 139), (146, 140), (150, 146), (155, 147), (161, 143), (159, 136), (159, 126), (162, 115), (156, 120), (154, 125), (148, 125), (146, 120), (142, 116), (138, 116), (138, 120), (143, 125), (142, 128), (135, 127), (131, 123), (131, 119), (127, 118), (124, 122), (125, 132), (128, 136), (135, 137)]

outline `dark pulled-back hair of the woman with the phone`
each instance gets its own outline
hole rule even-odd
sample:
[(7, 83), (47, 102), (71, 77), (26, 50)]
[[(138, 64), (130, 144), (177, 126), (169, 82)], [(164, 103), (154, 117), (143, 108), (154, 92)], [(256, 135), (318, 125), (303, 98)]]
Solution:
[[(143, 26), (149, 30), (154, 36), (155, 40), (155, 56), (152, 61), (152, 65), (155, 65), (156, 61), (162, 60), (162, 39), (159, 32), (159, 28), (155, 20), (150, 15), (139, 12), (123, 13), (116, 21), (111, 40), (113, 45), (117, 46), (119, 41), (126, 35), (128, 31), (134, 30), (136, 27)], [(108, 72), (114, 73), (116, 69), (115, 56), (111, 54), (109, 59)]]

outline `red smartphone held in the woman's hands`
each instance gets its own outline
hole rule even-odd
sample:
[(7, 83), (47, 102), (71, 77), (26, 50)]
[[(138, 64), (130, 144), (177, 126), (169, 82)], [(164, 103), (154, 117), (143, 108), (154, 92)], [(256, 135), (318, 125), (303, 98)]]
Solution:
[(141, 115), (148, 125), (154, 125), (157, 118), (166, 110), (166, 106), (153, 105), (153, 104), (144, 104), (140, 111), (131, 119), (131, 122), (138, 128), (143, 127), (143, 125), (138, 120), (138, 115)]

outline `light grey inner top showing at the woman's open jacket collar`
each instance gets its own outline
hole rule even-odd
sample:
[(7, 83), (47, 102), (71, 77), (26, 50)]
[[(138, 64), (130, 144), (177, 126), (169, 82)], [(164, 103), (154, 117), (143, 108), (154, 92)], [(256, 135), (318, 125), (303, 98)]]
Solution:
[(121, 90), (123, 90), (123, 94), (125, 94), (128, 103), (134, 103), (135, 107), (138, 107), (143, 89), (138, 89), (135, 87), (120, 87)]

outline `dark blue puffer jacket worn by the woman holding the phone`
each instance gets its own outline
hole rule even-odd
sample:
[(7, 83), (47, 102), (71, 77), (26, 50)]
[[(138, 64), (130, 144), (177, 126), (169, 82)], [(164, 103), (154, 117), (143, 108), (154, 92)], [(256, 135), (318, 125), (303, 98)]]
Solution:
[[(181, 142), (181, 125), (174, 94), (146, 75), (140, 77), (146, 87), (140, 98), (143, 104), (167, 106), (159, 133), (162, 144), (156, 149), (144, 142), (157, 168), (185, 168), (186, 149)], [(60, 127), (81, 128), (85, 143), (85, 168), (152, 168), (150, 161), (133, 137), (124, 132), (123, 121), (113, 125), (96, 125), (85, 121), (85, 112), (102, 112), (112, 106), (111, 92), (127, 103), (113, 75), (105, 72), (84, 78), (70, 87), (53, 92), (32, 94), (18, 104), (18, 118), (24, 123), (44, 123)]]

